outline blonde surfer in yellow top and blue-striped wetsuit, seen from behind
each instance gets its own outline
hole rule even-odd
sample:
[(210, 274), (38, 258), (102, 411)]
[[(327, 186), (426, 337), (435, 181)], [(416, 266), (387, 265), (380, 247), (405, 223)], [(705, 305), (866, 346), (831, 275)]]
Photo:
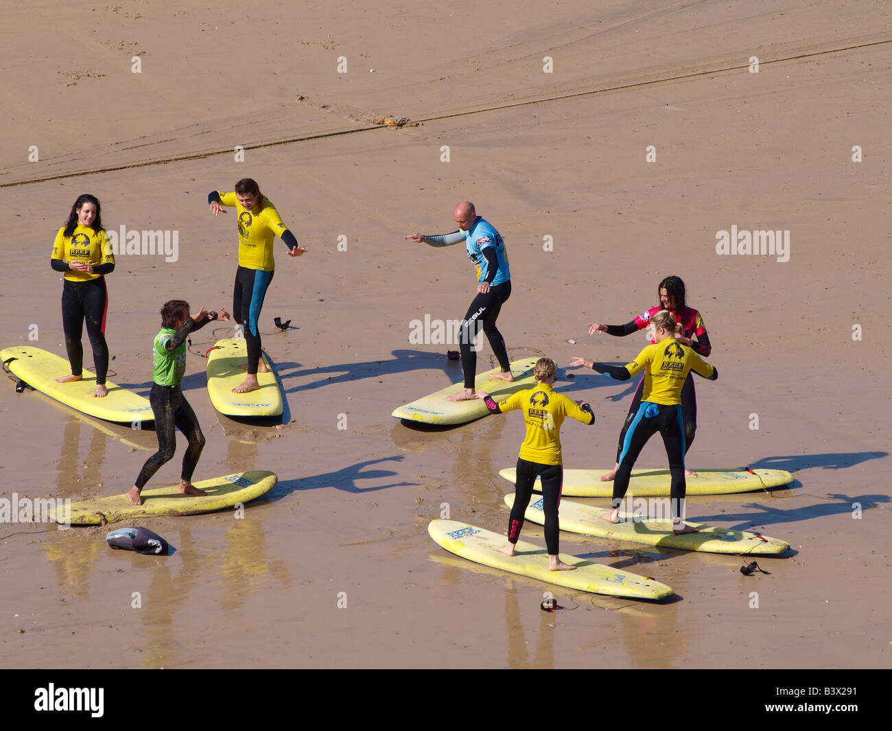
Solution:
[(632, 467), (648, 439), (658, 431), (663, 436), (666, 456), (669, 458), (669, 471), (672, 473), (670, 495), (673, 533), (697, 533), (697, 528), (684, 523), (687, 484), (684, 478), (685, 439), (681, 420), (681, 391), (685, 380), (690, 378), (691, 370), (711, 381), (719, 377), (719, 372), (703, 361), (692, 348), (681, 345), (677, 337), (681, 323), (676, 326), (672, 312), (657, 312), (650, 321), (654, 326), (656, 342), (638, 353), (634, 361), (624, 366), (610, 366), (580, 357), (574, 357), (570, 361), (571, 366), (584, 365), (621, 381), (644, 371), (641, 403), (632, 414), (632, 419), (627, 419), (628, 428), (614, 479), (612, 510), (601, 517), (610, 523), (619, 522), (619, 509), (629, 488)]

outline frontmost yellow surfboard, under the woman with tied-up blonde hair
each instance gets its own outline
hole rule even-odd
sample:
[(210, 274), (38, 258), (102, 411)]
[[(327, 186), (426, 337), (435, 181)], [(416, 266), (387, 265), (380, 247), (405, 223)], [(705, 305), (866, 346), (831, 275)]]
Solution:
[(468, 561), (536, 578), (549, 584), (566, 586), (568, 589), (651, 600), (662, 599), (674, 593), (671, 587), (651, 578), (612, 569), (566, 553), (558, 554), (560, 560), (576, 566), (576, 570), (551, 571), (546, 549), (524, 541), (517, 541), (515, 555), (508, 557), (498, 551), (507, 543), (505, 536), (457, 520), (432, 520), (427, 526), (427, 533), (436, 544)]

